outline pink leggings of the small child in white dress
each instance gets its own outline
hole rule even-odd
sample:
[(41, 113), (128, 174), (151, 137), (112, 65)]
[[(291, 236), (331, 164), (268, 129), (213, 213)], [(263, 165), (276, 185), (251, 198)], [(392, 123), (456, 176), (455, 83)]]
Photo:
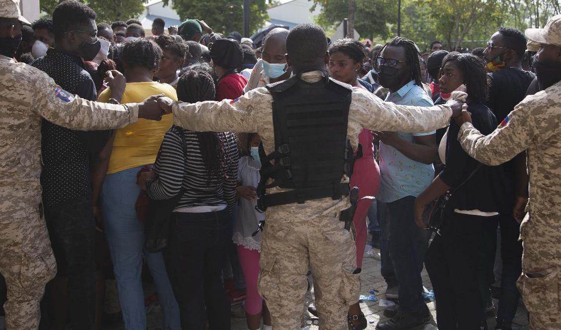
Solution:
[[(248, 250), (243, 245), (236, 245), (238, 259), (242, 266), (243, 277), (246, 282), (246, 313), (256, 315), (263, 309), (263, 298), (257, 291), (257, 277), (259, 277), (259, 251)], [(364, 250), (364, 248), (362, 249)]]

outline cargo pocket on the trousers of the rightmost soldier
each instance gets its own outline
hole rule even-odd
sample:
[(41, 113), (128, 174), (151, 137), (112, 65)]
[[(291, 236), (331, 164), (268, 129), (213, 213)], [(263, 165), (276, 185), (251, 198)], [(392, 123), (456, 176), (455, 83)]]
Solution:
[(522, 273), (517, 285), (526, 309), (530, 313), (555, 314), (559, 312), (559, 278), (556, 272), (546, 269), (531, 274)]

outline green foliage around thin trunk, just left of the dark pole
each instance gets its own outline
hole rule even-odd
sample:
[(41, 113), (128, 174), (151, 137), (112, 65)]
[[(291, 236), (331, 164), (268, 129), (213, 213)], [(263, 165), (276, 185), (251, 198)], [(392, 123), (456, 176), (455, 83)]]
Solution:
[[(315, 9), (318, 4), (321, 12), (316, 22), (327, 30), (337, 27), (348, 13), (347, 0), (310, 0)], [(388, 22), (397, 21), (397, 1), (395, 0), (355, 0), (355, 30), (363, 38), (373, 39), (390, 36)]]

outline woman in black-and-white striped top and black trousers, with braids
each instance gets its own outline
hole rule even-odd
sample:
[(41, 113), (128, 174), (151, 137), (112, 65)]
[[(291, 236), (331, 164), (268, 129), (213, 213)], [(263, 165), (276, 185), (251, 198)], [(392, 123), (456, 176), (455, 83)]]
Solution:
[[(203, 71), (188, 70), (177, 84), (182, 102), (214, 100), (214, 94), (214, 81)], [(192, 132), (172, 126), (154, 171), (139, 178), (151, 199), (181, 194), (173, 209), (164, 258), (182, 329), (205, 329), (207, 319), (211, 330), (230, 328), (222, 260), (231, 242), (238, 157), (231, 132)]]

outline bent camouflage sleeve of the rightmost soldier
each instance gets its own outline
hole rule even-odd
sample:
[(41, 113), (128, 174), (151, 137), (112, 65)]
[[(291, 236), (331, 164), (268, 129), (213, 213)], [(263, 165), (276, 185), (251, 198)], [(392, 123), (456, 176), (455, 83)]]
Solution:
[[(532, 112), (531, 103), (523, 100), (491, 134), (485, 136), (465, 122), (459, 129), (458, 140), (463, 150), (477, 161), (490, 166), (502, 164), (526, 150), (537, 134), (536, 116), (539, 114)], [(547, 134), (548, 130), (555, 131), (549, 127), (543, 133)]]

